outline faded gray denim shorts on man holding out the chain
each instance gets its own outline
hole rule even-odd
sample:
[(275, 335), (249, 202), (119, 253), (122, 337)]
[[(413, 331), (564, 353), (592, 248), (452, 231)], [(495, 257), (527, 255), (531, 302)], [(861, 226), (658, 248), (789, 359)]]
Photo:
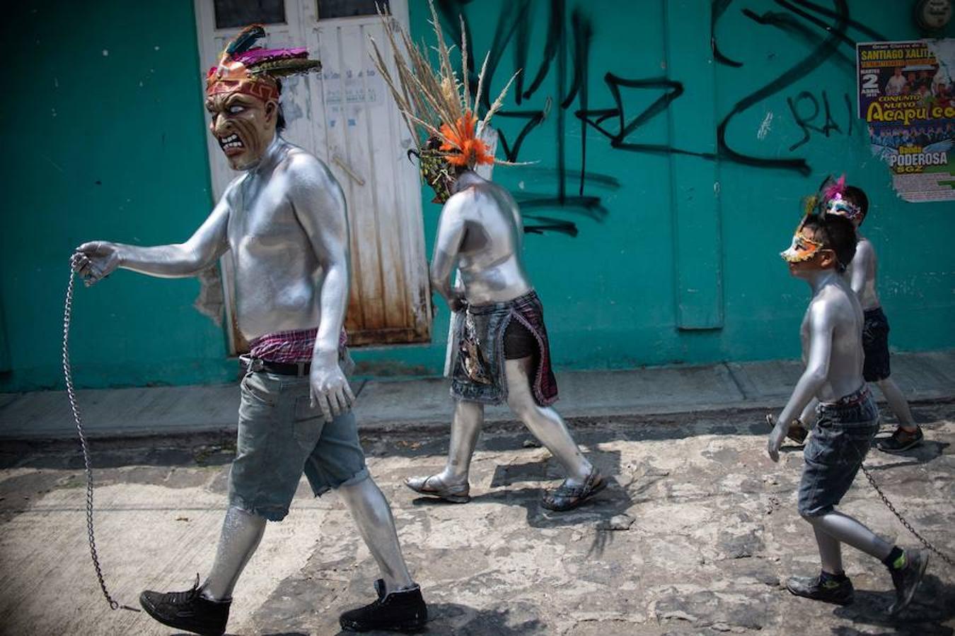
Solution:
[(241, 386), (229, 505), (277, 522), (303, 472), (316, 497), (368, 477), (354, 415), (325, 421), (308, 403), (308, 376), (248, 372)]

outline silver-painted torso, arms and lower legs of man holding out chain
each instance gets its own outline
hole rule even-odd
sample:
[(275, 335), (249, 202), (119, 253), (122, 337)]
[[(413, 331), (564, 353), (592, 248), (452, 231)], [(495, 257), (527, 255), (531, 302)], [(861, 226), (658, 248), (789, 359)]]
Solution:
[[(191, 277), (226, 251), (235, 266), (236, 311), (243, 336), (255, 339), (318, 327), (312, 396), (332, 399), (337, 394), (330, 402), (335, 414), (349, 408), (350, 400), (341, 397), (342, 384), (349, 395), (350, 389), (338, 367), (338, 339), (349, 291), (345, 197), (325, 164), (278, 134), (262, 158), (229, 184), (212, 214), (184, 243), (138, 247), (94, 241), (77, 248), (73, 262), (91, 284), (117, 267), (155, 277)], [(371, 478), (340, 491), (381, 566), (386, 590), (414, 586), (391, 507)], [(264, 519), (229, 509), (206, 581), (209, 596), (231, 594), (264, 527)]]

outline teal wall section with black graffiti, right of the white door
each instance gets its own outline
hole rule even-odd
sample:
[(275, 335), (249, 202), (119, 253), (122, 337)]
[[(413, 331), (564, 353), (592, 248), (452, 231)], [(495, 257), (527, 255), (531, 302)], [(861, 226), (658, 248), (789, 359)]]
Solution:
[[(525, 136), (520, 147), (519, 160), (538, 163), (498, 167), (495, 173), (499, 183), (519, 195), (559, 195), (554, 174), (560, 164), (557, 140), (563, 125), (567, 203), (524, 209), (525, 215), (572, 221), (578, 230), (576, 237), (552, 232), (529, 235), (525, 244), (528, 271), (547, 310), (558, 366), (621, 368), (796, 357), (797, 329), (808, 287), (789, 277), (778, 253), (787, 247), (798, 221), (800, 197), (814, 192), (826, 174), (842, 172), (872, 201), (863, 232), (881, 258), (880, 291), (892, 322), (893, 348), (955, 346), (951, 326), (955, 324), (955, 256), (950, 247), (955, 204), (912, 204), (895, 195), (887, 168), (872, 158), (854, 115), (852, 46), (824, 47), (826, 31), (771, 0), (712, 3), (726, 6), (716, 16), (713, 32), (719, 50), (741, 63), (738, 67), (705, 59), (711, 3), (703, 0), (538, 0), (527, 3), (526, 11), (522, 3), (511, 0), (436, 4), (447, 9), (446, 16), (463, 12), (467, 17), (478, 63), (496, 37), (501, 42), (510, 33), (507, 44), (496, 49), (501, 54), (492, 94), (519, 68), (524, 69), (527, 91), (531, 78), (541, 70), (546, 42), (554, 39), (546, 36), (554, 15), (551, 8), (565, 7), (562, 19), (557, 18), (567, 38), (565, 92), (559, 92), (560, 68), (555, 59), (536, 91), (520, 104), (512, 91), (504, 107), (512, 112), (541, 111), (551, 99), (547, 118)], [(816, 4), (838, 8), (836, 2)], [(420, 37), (430, 28), (427, 5), (423, 1), (412, 5), (412, 28)], [(507, 14), (508, 7), (527, 18), (531, 33), (526, 54), (519, 52), (520, 29), (511, 31), (516, 20)], [(885, 39), (919, 37), (910, 3), (850, 0), (846, 9), (852, 23), (844, 31), (834, 31), (851, 40), (882, 39), (865, 30)], [(809, 14), (823, 24), (838, 25), (836, 17)], [(442, 22), (450, 30), (456, 19)], [(575, 49), (575, 23), (579, 31), (582, 24), (592, 31), (586, 55)], [(949, 25), (946, 35), (953, 34)], [(681, 39), (687, 37), (695, 39)], [(688, 48), (695, 51), (695, 62), (687, 59)], [(830, 49), (833, 52), (826, 56), (824, 51)], [(576, 93), (561, 124), (559, 95), (571, 91), (578, 66), (586, 74), (587, 105)], [(678, 82), (684, 92), (620, 139), (625, 146), (645, 145), (643, 149), (613, 148), (611, 140), (592, 127), (586, 133), (586, 172), (594, 177), (585, 179), (584, 195), (600, 197), (605, 209), (605, 214), (587, 215), (571, 200), (580, 195), (583, 146), (583, 128), (575, 113), (584, 108), (615, 108), (607, 73), (626, 80), (666, 78)], [(751, 97), (768, 86), (775, 92)], [(676, 90), (673, 86), (621, 88), (625, 124), (659, 96)], [(803, 92), (811, 96), (799, 97)], [(831, 115), (828, 127), (823, 92)], [(795, 149), (804, 133), (788, 100), (817, 129), (809, 130), (808, 141)], [(814, 102), (819, 112), (811, 118)], [(598, 117), (599, 113), (590, 116)], [(498, 116), (495, 125), (513, 143), (526, 121)], [(725, 146), (721, 147), (717, 130), (724, 122)], [(611, 134), (620, 131), (613, 117), (602, 125)], [(828, 133), (823, 133), (826, 129)], [(715, 150), (720, 156), (713, 160), (668, 154), (654, 147), (668, 145), (690, 154)], [(731, 152), (755, 158), (734, 160)], [(773, 166), (774, 161), (802, 161), (799, 165), (804, 167), (800, 172)], [(619, 185), (607, 185), (611, 179)], [(424, 209), (430, 249), (438, 210), (429, 198), (426, 194)], [(686, 208), (688, 201), (690, 209), (681, 210), (678, 222), (674, 208), (678, 203)], [(710, 284), (694, 287), (697, 281)], [(721, 316), (712, 314), (714, 306)], [(709, 320), (722, 328), (680, 328), (685, 320), (693, 326), (694, 316), (704, 317), (696, 320), (701, 325)], [(442, 338), (446, 333), (447, 311), (442, 306), (435, 336)], [(441, 354), (443, 342), (414, 354), (394, 351), (391, 356), (435, 370)], [(371, 358), (371, 352), (359, 358), (365, 356)], [(381, 356), (375, 353), (374, 359)]]

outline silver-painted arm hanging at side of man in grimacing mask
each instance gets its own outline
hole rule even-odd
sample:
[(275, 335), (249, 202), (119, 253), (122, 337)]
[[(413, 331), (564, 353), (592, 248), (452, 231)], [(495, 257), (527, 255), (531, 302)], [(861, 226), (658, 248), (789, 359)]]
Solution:
[(354, 395), (338, 366), (338, 338), (349, 301), (349, 224), (345, 195), (329, 169), (298, 154), (288, 172), (288, 197), (322, 267), (318, 335), (312, 349), (311, 399), (327, 420), (349, 410)]

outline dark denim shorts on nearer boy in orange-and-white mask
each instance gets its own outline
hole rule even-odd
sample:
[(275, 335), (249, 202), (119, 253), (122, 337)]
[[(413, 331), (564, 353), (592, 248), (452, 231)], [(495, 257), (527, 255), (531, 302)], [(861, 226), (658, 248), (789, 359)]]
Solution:
[(803, 453), (799, 514), (818, 517), (842, 501), (879, 432), (879, 407), (868, 387), (835, 402), (821, 402)]

